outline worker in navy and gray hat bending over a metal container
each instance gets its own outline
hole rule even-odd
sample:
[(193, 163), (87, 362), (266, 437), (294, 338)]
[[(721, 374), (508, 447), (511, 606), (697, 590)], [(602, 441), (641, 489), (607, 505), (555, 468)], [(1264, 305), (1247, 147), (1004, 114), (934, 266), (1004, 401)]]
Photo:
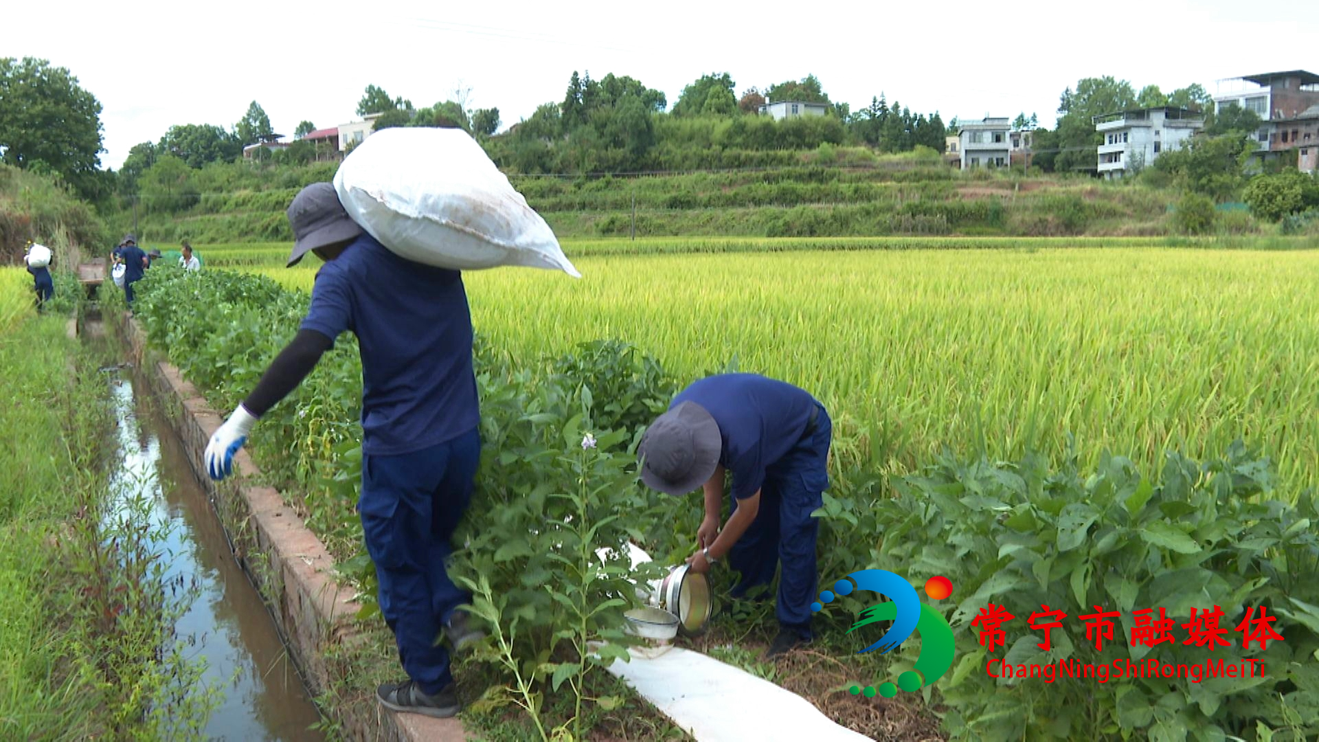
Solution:
[[(766, 658), (813, 639), (819, 524), (811, 512), (828, 489), (831, 436), (828, 412), (809, 392), (758, 374), (723, 374), (679, 392), (637, 446), (646, 486), (674, 496), (704, 491), (692, 572), (727, 557), (741, 573), (732, 594), (743, 597), (769, 585), (782, 565), (780, 631)], [(720, 528), (729, 471), (732, 512)]]

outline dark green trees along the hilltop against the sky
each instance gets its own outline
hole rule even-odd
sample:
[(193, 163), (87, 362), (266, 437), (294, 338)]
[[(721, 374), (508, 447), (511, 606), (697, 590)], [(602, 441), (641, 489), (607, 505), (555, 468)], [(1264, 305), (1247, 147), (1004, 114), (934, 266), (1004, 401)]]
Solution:
[[(669, 106), (666, 95), (627, 75), (595, 79), (574, 71), (559, 100), (541, 104), (526, 119), (496, 135), (499, 108), (468, 106), (471, 90), (433, 106), (417, 108), (375, 84), (357, 102), (359, 116), (373, 118), (375, 129), (389, 127), (456, 127), (470, 132), (501, 166), (528, 174), (584, 174), (765, 166), (782, 162), (791, 151), (826, 147), (865, 147), (884, 153), (915, 148), (944, 151), (946, 136), (958, 121), (944, 124), (938, 111), (911, 112), (897, 100), (872, 96), (852, 111), (835, 102), (815, 75), (783, 81), (764, 88), (737, 86), (728, 73), (704, 74), (685, 86)], [(816, 103), (823, 115), (774, 120), (761, 114), (770, 102)], [(1240, 194), (1248, 180), (1244, 164), (1254, 149), (1260, 119), (1229, 106), (1215, 112), (1200, 84), (1163, 94), (1155, 84), (1137, 90), (1113, 77), (1084, 78), (1059, 96), (1054, 129), (1038, 118), (1017, 115), (1013, 128), (1033, 131), (1033, 164), (1043, 172), (1097, 169), (1096, 148), (1103, 136), (1093, 118), (1145, 107), (1184, 107), (1202, 111), (1202, 135), (1181, 151), (1165, 152), (1151, 168), (1154, 180), (1223, 201)], [(112, 195), (152, 190), (169, 198), (185, 191), (189, 172), (212, 162), (235, 162), (247, 145), (278, 135), (257, 102), (231, 127), (177, 124), (160, 140), (135, 145), (120, 170), (102, 169), (102, 107), (63, 67), (44, 59), (0, 59), (0, 157), (11, 165), (49, 174), (95, 203)], [(290, 147), (256, 151), (260, 161), (302, 164), (317, 158), (305, 140), (315, 125), (303, 120)], [(338, 149), (334, 143), (332, 149)], [(777, 157), (777, 158), (776, 158)], [(1289, 191), (1290, 193), (1290, 191)]]

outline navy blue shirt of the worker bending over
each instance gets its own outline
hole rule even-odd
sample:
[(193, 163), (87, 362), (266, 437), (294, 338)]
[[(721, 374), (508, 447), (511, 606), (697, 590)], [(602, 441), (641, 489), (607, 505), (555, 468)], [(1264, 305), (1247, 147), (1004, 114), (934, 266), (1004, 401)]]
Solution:
[(758, 374), (721, 374), (694, 382), (674, 397), (670, 409), (694, 401), (719, 424), (719, 463), (733, 475), (733, 496), (760, 491), (765, 470), (802, 440), (811, 409), (809, 392)]

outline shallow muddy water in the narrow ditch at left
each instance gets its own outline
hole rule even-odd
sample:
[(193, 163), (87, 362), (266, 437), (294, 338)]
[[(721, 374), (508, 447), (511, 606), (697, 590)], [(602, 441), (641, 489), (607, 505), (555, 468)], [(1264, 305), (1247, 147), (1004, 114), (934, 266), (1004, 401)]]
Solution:
[[(175, 623), (179, 639), (206, 659), (202, 683), (222, 700), (203, 734), (224, 741), (318, 741), (321, 721), (274, 619), (233, 560), (219, 519), (185, 458), (182, 444), (157, 413), (135, 397), (128, 368), (109, 371), (120, 469), (116, 498), (145, 498), (152, 519), (168, 524), (158, 544), (169, 578), (197, 597)], [(124, 499), (119, 500), (125, 502)], [(111, 511), (113, 511), (111, 504)]]

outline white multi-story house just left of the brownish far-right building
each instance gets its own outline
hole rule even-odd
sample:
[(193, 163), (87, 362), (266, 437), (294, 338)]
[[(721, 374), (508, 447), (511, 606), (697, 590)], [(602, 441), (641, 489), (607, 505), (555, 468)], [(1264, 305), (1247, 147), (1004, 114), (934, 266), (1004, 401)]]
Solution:
[(1136, 108), (1095, 116), (1099, 174), (1120, 178), (1154, 164), (1159, 154), (1177, 149), (1204, 127), (1204, 116), (1187, 108)]

